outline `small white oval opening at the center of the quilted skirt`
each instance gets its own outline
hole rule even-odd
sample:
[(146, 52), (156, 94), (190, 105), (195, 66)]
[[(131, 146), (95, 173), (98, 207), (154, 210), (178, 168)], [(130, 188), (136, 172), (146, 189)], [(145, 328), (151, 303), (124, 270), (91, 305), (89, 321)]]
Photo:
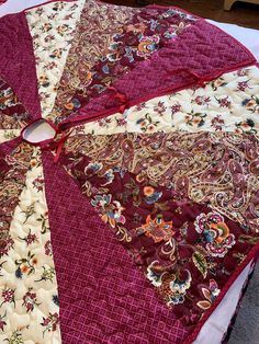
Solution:
[(55, 129), (45, 119), (32, 123), (22, 134), (23, 138), (31, 144), (40, 144), (53, 139), (55, 135)]

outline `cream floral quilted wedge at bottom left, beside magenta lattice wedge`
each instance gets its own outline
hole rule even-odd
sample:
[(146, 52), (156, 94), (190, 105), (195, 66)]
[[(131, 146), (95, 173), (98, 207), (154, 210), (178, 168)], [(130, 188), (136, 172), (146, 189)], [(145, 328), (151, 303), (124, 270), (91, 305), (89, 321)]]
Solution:
[(0, 260), (0, 343), (61, 343), (41, 153), (34, 148), (26, 185), (10, 226), (13, 241)]

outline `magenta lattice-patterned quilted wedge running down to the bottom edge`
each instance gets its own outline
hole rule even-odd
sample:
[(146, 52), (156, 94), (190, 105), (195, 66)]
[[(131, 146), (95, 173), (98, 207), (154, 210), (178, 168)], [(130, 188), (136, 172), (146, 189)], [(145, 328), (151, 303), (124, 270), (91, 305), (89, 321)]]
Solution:
[(187, 331), (75, 182), (50, 153), (43, 164), (64, 343), (181, 343)]

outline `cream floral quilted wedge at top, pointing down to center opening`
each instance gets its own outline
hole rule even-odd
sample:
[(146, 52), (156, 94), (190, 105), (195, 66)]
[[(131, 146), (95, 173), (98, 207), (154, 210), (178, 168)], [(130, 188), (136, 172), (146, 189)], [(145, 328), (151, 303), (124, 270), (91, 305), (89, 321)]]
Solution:
[(74, 32), (85, 0), (50, 2), (26, 11), (33, 37), (42, 116), (53, 108)]

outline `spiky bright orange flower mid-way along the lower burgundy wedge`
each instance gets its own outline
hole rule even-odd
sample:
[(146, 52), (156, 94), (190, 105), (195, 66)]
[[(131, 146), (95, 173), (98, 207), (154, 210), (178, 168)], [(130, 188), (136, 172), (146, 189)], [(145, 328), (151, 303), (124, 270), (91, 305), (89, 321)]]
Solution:
[(167, 241), (174, 234), (172, 221), (166, 222), (161, 215), (158, 215), (154, 220), (151, 216), (148, 215), (146, 223), (136, 228), (136, 231), (139, 234), (144, 233), (146, 237), (153, 238), (155, 242)]

